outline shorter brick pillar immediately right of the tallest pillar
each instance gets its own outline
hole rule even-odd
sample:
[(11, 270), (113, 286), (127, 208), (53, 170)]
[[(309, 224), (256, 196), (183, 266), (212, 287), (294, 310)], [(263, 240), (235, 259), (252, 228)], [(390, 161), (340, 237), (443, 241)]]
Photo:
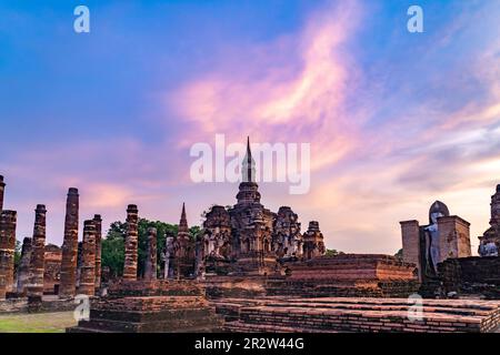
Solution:
[(83, 222), (83, 244), (80, 273), (80, 294), (93, 296), (96, 293), (96, 223)]

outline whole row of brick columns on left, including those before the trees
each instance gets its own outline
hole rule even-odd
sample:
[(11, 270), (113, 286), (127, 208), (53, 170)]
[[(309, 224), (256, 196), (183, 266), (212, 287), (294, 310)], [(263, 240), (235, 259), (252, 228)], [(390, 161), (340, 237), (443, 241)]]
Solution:
[[(3, 176), (0, 176), (0, 207), (3, 207)], [(0, 210), (0, 300), (7, 292), (17, 291), (27, 294), (32, 302), (41, 301), (43, 295), (44, 246), (46, 246), (47, 209), (39, 204), (34, 211), (33, 237), (24, 239), (21, 261), (18, 270), (18, 284), (13, 282), (16, 225), (14, 211)], [(138, 222), (137, 205), (127, 209), (127, 236), (123, 280), (137, 280), (138, 271)], [(73, 297), (77, 292), (78, 263), (78, 226), (79, 226), (79, 193), (70, 187), (66, 204), (64, 239), (62, 243), (61, 276), (59, 296)], [(83, 242), (80, 270), (79, 293), (94, 295), (101, 286), (101, 240), (102, 219), (94, 215), (93, 220), (83, 222)], [(148, 251), (144, 267), (144, 278), (157, 278), (157, 230), (148, 229)]]

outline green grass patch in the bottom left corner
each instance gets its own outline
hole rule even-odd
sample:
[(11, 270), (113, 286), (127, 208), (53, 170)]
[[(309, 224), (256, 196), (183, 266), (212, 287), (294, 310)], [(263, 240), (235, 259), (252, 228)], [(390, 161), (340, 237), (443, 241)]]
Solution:
[(64, 333), (74, 325), (73, 312), (0, 315), (0, 333)]

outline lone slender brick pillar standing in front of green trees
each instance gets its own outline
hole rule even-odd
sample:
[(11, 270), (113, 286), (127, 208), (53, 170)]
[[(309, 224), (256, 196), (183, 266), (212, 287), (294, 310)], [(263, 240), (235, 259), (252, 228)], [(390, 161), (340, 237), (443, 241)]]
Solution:
[(123, 280), (127, 281), (137, 280), (138, 214), (137, 205), (129, 204), (127, 209), (127, 237), (123, 265)]

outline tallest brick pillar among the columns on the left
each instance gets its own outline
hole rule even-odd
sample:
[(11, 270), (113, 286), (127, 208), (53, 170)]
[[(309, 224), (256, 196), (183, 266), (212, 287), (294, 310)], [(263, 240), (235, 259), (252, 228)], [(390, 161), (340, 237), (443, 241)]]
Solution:
[(77, 282), (78, 256), (78, 189), (68, 191), (66, 203), (64, 241), (62, 243), (61, 284), (59, 297), (73, 297)]

